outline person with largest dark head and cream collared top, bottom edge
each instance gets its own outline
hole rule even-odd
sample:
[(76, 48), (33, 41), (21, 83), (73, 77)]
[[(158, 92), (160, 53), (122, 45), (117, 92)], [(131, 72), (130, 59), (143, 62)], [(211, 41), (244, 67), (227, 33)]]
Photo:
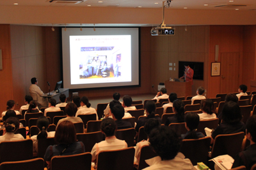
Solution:
[(185, 159), (185, 156), (179, 152), (180, 139), (173, 129), (160, 126), (153, 129), (148, 138), (150, 146), (152, 146), (158, 156), (145, 160), (149, 167), (146, 167), (144, 170), (194, 169), (191, 161)]

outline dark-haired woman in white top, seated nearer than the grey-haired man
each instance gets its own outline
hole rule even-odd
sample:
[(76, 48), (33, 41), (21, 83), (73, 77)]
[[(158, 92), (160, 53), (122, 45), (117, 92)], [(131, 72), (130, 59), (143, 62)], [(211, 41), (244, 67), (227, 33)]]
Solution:
[(200, 120), (209, 120), (212, 118), (217, 118), (214, 112), (213, 102), (211, 99), (205, 99), (201, 101), (201, 110), (203, 113), (198, 114)]

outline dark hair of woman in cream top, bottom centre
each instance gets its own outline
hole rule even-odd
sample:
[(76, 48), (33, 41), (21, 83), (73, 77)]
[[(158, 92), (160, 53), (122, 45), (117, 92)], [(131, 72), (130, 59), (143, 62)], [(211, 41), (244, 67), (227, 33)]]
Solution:
[(113, 118), (104, 118), (100, 124), (100, 129), (106, 137), (114, 136), (116, 131), (116, 122)]

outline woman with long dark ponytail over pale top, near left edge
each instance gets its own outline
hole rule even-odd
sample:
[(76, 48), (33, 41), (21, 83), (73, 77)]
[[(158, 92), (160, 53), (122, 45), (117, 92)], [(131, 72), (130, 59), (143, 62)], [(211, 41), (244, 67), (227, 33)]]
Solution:
[(55, 136), (55, 131), (47, 132), (47, 128), (49, 127), (49, 120), (46, 117), (40, 117), (38, 118), (36, 122), (36, 126), (39, 129), (38, 135), (31, 136), (30, 139), (33, 141), (33, 152), (38, 152), (38, 140), (39, 139), (46, 139), (51, 138)]

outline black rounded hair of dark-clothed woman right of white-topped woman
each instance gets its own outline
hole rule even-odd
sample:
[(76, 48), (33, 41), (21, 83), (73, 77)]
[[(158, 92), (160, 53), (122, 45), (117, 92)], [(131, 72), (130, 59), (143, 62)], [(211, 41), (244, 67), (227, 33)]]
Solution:
[(242, 119), (240, 108), (234, 101), (225, 103), (221, 113), (223, 121), (228, 124), (237, 123)]

